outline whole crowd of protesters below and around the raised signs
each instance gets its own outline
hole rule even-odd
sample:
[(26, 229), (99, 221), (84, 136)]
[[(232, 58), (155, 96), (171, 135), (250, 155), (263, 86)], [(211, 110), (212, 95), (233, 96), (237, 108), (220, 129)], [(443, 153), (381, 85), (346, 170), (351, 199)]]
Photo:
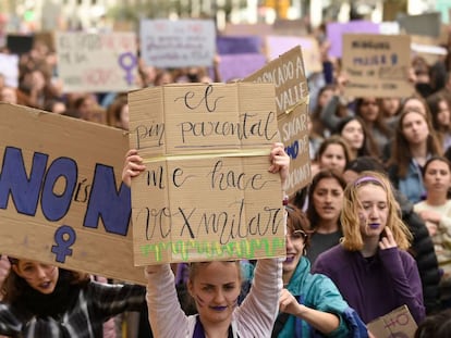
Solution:
[[(321, 43), (325, 71), (309, 83), (313, 177), (284, 201), (285, 258), (147, 266), (144, 288), (3, 255), (0, 335), (374, 337), (368, 323), (406, 305), (415, 337), (448, 337), (451, 43), (434, 64), (412, 55), (412, 96), (352, 99), (346, 74)], [(158, 70), (141, 61), (136, 82), (221, 82), (219, 62)], [(0, 101), (129, 129), (126, 92), (65, 92), (45, 43), (21, 55), (19, 71), (17, 88), (0, 76)], [(125, 158), (130, 186), (145, 166), (136, 150)], [(269, 171), (282, 188), (289, 163), (275, 143)], [(131, 312), (137, 315), (124, 315)]]

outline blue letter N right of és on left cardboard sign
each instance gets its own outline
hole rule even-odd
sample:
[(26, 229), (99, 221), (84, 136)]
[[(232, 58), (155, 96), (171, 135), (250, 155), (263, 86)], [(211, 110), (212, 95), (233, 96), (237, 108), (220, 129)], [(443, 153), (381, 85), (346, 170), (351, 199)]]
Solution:
[(131, 212), (130, 188), (121, 184), (118, 193), (113, 168), (97, 164), (84, 226), (97, 228), (101, 218), (107, 233), (126, 236)]

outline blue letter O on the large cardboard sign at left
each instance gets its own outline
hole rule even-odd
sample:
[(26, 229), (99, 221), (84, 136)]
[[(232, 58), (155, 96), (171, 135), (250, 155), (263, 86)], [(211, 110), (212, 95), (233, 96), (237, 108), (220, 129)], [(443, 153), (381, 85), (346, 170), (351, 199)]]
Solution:
[[(56, 159), (47, 171), (42, 187), (40, 205), (42, 213), (49, 221), (61, 220), (71, 206), (75, 190), (78, 170), (74, 160), (69, 158)], [(65, 189), (61, 196), (54, 193), (53, 187), (60, 177), (65, 178)]]

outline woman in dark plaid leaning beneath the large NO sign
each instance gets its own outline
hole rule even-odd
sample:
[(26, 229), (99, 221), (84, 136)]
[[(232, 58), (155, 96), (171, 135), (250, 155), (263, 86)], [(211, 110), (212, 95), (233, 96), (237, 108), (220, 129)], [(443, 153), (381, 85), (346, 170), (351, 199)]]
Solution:
[(0, 302), (0, 335), (98, 338), (103, 323), (145, 305), (138, 285), (107, 285), (85, 273), (9, 258), (11, 270)]

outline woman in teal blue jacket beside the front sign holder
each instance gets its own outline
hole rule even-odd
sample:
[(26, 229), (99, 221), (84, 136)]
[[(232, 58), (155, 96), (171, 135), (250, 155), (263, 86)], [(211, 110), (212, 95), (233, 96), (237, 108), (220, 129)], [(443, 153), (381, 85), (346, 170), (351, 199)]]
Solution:
[(287, 259), (280, 314), (272, 337), (368, 337), (365, 325), (332, 280), (310, 273), (310, 263), (304, 256), (308, 248), (308, 218), (293, 205), (285, 209)]

